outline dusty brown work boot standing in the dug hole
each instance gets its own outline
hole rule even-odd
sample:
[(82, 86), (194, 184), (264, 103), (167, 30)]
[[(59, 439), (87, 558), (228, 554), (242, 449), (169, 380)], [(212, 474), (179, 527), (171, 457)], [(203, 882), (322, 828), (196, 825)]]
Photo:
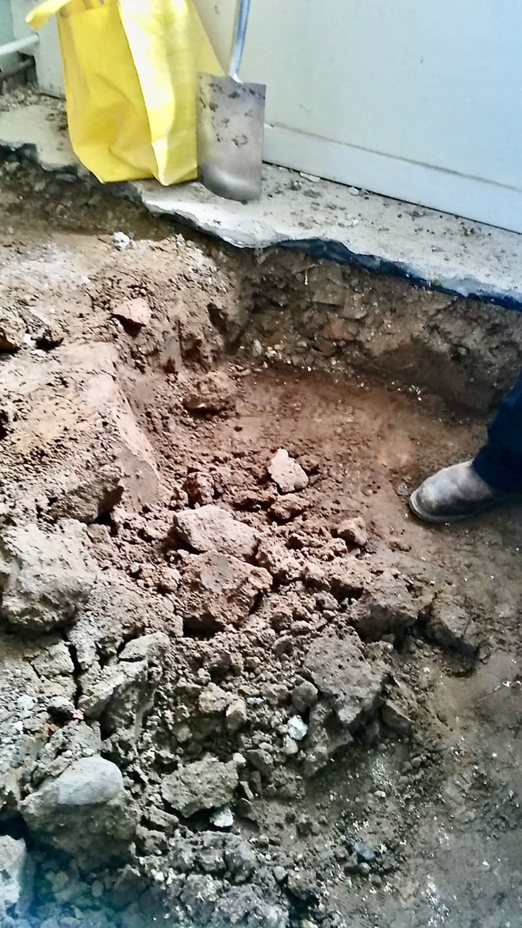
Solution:
[(453, 464), (428, 477), (410, 496), (410, 509), (424, 522), (458, 522), (518, 496), (494, 490), (473, 470), (472, 461)]

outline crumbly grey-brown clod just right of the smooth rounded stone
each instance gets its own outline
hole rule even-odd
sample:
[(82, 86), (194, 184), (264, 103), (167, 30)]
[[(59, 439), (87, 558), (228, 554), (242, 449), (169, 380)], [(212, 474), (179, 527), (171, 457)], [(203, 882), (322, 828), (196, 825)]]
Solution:
[(238, 783), (235, 760), (223, 763), (207, 754), (201, 760), (165, 777), (161, 795), (172, 808), (189, 818), (202, 809), (228, 806)]

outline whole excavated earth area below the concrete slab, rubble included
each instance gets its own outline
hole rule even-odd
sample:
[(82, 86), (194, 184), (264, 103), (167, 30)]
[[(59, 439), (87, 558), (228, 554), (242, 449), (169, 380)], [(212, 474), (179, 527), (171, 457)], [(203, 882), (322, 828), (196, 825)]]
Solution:
[(520, 924), (522, 318), (2, 174), (0, 924)]

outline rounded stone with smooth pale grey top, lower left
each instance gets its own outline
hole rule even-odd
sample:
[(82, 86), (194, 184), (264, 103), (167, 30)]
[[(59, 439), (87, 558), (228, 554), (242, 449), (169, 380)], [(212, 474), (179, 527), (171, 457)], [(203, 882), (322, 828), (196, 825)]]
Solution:
[(74, 761), (20, 804), (38, 844), (75, 857), (82, 870), (124, 859), (134, 837), (121, 770), (98, 755)]

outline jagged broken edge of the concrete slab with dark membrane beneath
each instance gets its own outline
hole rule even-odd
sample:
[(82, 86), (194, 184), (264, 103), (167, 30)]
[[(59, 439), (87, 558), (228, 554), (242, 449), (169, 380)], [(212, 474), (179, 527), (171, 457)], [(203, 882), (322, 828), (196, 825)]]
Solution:
[[(477, 299), (483, 303), (494, 303), (505, 309), (522, 312), (522, 279), (520, 288), (518, 288), (504, 287), (469, 275), (459, 277), (454, 271), (448, 276), (432, 275), (422, 263), (407, 263), (384, 254), (356, 251), (337, 239), (288, 238), (269, 223), (259, 223), (254, 229), (251, 224), (249, 229), (248, 227), (238, 228), (234, 224), (227, 227), (215, 218), (205, 218), (197, 210), (197, 206), (201, 205), (197, 200), (194, 203), (194, 210), (172, 204), (172, 188), (170, 188), (170, 205), (167, 207), (161, 203), (161, 196), (157, 192), (149, 191), (148, 187), (154, 182), (128, 181), (120, 184), (101, 184), (79, 161), (76, 161), (69, 144), (60, 149), (54, 149), (49, 154), (36, 142), (13, 142), (0, 138), (0, 157), (6, 158), (7, 155), (14, 155), (20, 162), (29, 161), (37, 164), (45, 172), (55, 174), (58, 179), (60, 174), (67, 174), (98, 189), (107, 189), (113, 196), (143, 206), (152, 215), (170, 217), (175, 222), (212, 238), (218, 238), (235, 248), (264, 250), (279, 246), (295, 249), (308, 253), (314, 258), (335, 261), (339, 264), (357, 265), (374, 273), (407, 278), (412, 283), (427, 289), (441, 290), (457, 297)], [(296, 173), (296, 176), (299, 174)], [(338, 185), (332, 186), (338, 187)], [(159, 194), (164, 189), (159, 187)], [(408, 206), (411, 208), (411, 204)], [(449, 217), (449, 219), (454, 219), (454, 217)], [(491, 231), (498, 231), (503, 236), (519, 238), (522, 249), (522, 237), (516, 236), (516, 233), (496, 229), (491, 229)]]

